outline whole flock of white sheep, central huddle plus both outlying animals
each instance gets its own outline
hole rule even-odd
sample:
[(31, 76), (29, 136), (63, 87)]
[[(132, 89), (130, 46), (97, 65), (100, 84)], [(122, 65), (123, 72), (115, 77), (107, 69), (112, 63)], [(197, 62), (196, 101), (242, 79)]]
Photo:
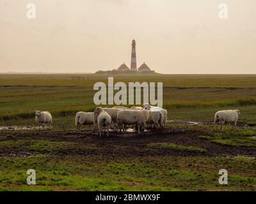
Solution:
[[(234, 122), (237, 129), (237, 120), (240, 115), (239, 110), (221, 110), (215, 113), (214, 127), (220, 122), (221, 131), (223, 131), (223, 124), (227, 122), (228, 127), (230, 123)], [(36, 110), (36, 123), (48, 124), (51, 128), (52, 115), (49, 112), (42, 112)], [(133, 106), (127, 108), (124, 106), (115, 106), (113, 108), (97, 107), (94, 112), (77, 112), (76, 113), (76, 126), (80, 129), (82, 125), (92, 125), (92, 131), (95, 130), (95, 124), (98, 125), (99, 135), (102, 132), (107, 132), (109, 136), (109, 129), (113, 131), (119, 131), (120, 133), (128, 126), (136, 129), (138, 133), (141, 133), (147, 126), (147, 128), (163, 129), (166, 127), (167, 122), (167, 110), (157, 106), (149, 104), (141, 106)]]

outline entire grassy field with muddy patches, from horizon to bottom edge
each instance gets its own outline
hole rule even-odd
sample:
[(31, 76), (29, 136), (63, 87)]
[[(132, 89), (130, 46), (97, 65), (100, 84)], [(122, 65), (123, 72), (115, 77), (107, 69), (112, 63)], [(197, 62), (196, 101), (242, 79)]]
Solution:
[[(168, 128), (185, 130), (124, 142), (67, 135), (77, 111), (95, 108), (93, 84), (108, 81), (72, 76), (0, 75), (0, 128), (34, 126), (35, 110), (53, 115), (49, 131), (0, 130), (0, 190), (256, 190), (256, 75), (113, 76), (114, 83), (163, 82)], [(224, 109), (241, 110), (238, 133), (212, 133), (214, 113)], [(36, 170), (35, 186), (26, 184), (29, 168)], [(228, 170), (227, 186), (218, 184), (221, 168)]]

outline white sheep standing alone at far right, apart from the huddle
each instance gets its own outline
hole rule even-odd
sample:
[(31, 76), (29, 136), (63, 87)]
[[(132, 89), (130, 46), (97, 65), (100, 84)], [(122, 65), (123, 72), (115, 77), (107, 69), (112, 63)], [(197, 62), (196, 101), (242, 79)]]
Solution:
[(213, 131), (215, 131), (215, 126), (218, 122), (221, 123), (221, 131), (223, 131), (223, 124), (225, 124), (225, 122), (228, 123), (228, 129), (229, 129), (230, 123), (234, 122), (235, 127), (238, 130), (236, 123), (239, 115), (240, 115), (240, 110), (220, 110), (216, 112), (214, 116)]

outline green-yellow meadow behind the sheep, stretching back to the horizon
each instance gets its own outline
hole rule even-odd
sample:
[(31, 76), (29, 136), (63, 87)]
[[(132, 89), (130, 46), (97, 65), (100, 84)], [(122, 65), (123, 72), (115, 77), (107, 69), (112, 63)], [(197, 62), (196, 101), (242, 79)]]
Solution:
[[(0, 120), (30, 119), (34, 111), (54, 116), (74, 115), (95, 108), (93, 85), (107, 75), (0, 75)], [(79, 75), (80, 76), (80, 75)], [(256, 75), (113, 75), (116, 82), (163, 82), (163, 106), (170, 119), (210, 121), (216, 110), (241, 109), (241, 121), (256, 120)], [(204, 117), (202, 117), (204, 115)]]

